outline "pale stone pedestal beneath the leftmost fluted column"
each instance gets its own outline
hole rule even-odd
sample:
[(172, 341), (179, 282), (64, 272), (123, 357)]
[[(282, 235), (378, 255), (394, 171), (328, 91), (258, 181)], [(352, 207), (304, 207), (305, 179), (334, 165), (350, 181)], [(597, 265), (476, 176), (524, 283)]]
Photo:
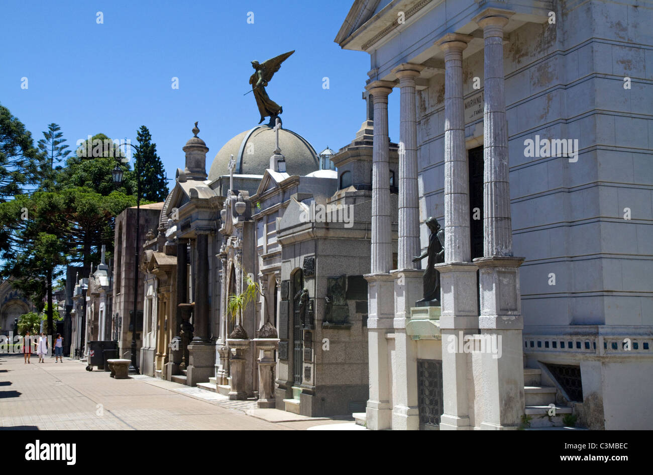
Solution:
[(386, 273), (366, 274), (368, 281), (368, 355), (370, 361), (370, 399), (366, 425), (373, 431), (392, 427), (388, 344), (394, 320), (394, 276)]

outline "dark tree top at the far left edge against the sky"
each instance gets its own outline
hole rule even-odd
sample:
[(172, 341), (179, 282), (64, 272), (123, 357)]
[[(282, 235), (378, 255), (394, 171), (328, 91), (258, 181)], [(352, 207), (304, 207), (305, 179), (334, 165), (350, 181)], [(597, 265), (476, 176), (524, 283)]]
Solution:
[(37, 182), (39, 159), (31, 133), (0, 105), (0, 202)]

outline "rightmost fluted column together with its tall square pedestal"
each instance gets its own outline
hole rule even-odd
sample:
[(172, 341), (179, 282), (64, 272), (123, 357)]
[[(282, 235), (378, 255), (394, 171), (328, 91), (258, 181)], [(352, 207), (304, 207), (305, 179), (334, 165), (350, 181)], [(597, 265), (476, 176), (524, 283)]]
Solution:
[(481, 316), (479, 328), (486, 342), (501, 354), (484, 352), (484, 401), (481, 429), (517, 429), (524, 412), (519, 266), (513, 257), (510, 218), (508, 134), (503, 86), (503, 27), (514, 12), (487, 8), (474, 18), (485, 40), (485, 110), (483, 111), (483, 255), (479, 267)]

